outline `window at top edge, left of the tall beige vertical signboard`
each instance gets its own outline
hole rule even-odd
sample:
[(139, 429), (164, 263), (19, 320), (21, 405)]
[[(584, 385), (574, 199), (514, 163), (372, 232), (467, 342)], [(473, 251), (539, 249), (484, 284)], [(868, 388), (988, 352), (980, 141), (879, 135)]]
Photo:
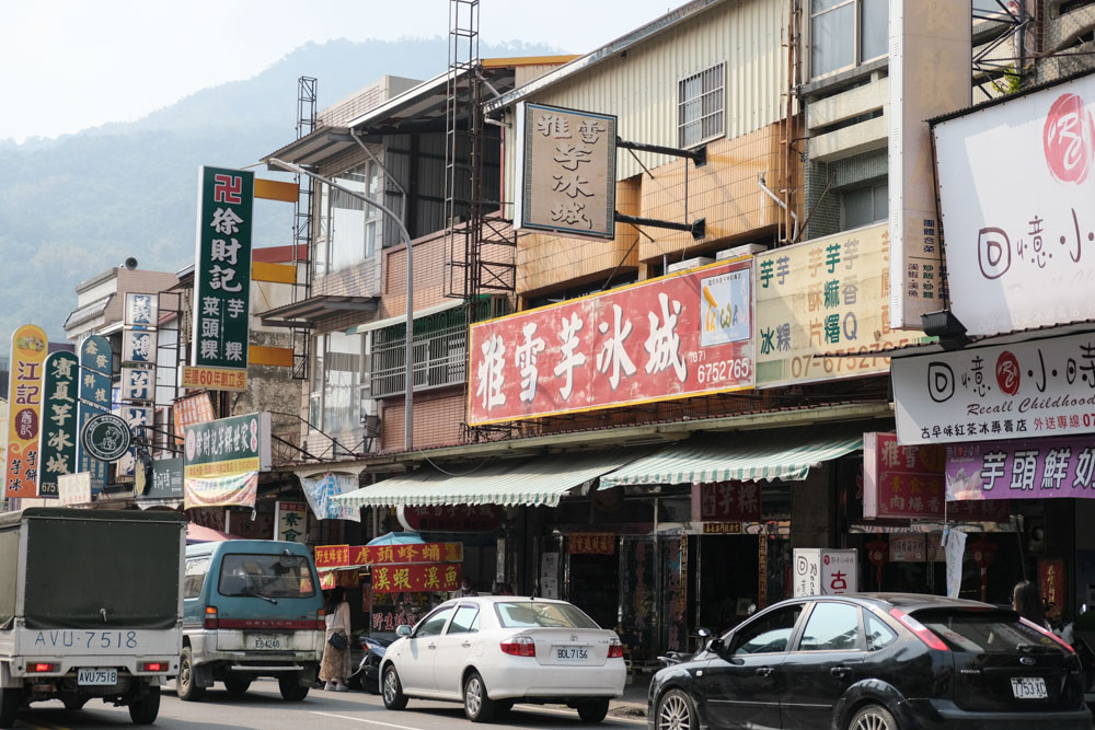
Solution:
[(885, 56), (889, 0), (810, 0), (810, 76)]

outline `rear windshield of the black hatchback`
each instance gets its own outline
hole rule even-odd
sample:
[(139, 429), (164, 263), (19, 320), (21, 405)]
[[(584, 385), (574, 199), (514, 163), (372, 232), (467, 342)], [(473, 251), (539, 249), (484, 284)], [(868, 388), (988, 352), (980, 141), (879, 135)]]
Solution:
[(1003, 611), (920, 611), (917, 621), (932, 629), (953, 651), (976, 653), (1061, 653), (1063, 647)]

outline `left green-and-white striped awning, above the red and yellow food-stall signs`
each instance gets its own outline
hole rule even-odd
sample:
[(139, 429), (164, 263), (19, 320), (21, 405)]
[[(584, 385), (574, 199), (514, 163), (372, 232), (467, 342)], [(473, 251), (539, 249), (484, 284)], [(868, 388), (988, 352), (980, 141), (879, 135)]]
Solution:
[(485, 459), (477, 464), (440, 471), (424, 467), (334, 497), (350, 507), (434, 507), (502, 505), (555, 507), (580, 484), (638, 459), (635, 450), (619, 453), (557, 454), (534, 459)]

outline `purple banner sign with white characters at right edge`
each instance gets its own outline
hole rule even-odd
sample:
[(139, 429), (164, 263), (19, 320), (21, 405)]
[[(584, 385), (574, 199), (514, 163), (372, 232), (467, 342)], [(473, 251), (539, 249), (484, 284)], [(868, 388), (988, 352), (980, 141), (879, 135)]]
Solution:
[(947, 499), (1095, 497), (1095, 436), (947, 447)]

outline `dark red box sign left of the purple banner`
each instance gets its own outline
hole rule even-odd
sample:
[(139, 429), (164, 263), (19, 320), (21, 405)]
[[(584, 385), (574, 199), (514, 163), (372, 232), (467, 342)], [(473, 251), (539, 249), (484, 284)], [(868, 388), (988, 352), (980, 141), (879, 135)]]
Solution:
[(946, 447), (900, 447), (896, 433), (863, 434), (863, 517), (1007, 521), (1006, 501), (947, 502)]

